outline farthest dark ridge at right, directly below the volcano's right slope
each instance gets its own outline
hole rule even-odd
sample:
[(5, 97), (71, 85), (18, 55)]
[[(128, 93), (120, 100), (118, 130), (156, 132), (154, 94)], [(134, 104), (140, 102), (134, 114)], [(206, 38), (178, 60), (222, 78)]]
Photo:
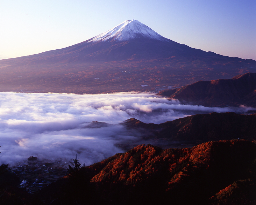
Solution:
[(158, 95), (210, 107), (256, 107), (256, 73), (225, 80), (198, 81), (178, 89), (163, 90)]

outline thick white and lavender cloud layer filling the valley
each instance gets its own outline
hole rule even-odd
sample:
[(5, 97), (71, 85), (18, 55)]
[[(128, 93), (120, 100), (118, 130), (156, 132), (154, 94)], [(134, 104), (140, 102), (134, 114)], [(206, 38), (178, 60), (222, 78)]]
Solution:
[[(77, 154), (89, 165), (124, 152), (115, 144), (137, 137), (118, 124), (129, 118), (159, 124), (194, 114), (249, 109), (184, 105), (153, 93), (0, 92), (0, 164), (23, 162), (29, 156), (68, 162)], [(113, 125), (97, 127), (92, 121)]]

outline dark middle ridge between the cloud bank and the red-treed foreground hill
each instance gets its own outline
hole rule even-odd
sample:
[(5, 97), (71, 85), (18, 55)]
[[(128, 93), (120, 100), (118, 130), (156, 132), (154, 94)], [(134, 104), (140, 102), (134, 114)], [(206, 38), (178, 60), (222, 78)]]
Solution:
[[(181, 143), (185, 146), (185, 144), (215, 140), (255, 140), (256, 114), (214, 112), (192, 115), (161, 124), (147, 124), (137, 119), (129, 119), (122, 124), (128, 131), (137, 133), (141, 137), (138, 142), (143, 140), (146, 143), (168, 148), (181, 145)], [(133, 142), (128, 147), (136, 146), (138, 142)], [(126, 143), (129, 144), (129, 142)]]

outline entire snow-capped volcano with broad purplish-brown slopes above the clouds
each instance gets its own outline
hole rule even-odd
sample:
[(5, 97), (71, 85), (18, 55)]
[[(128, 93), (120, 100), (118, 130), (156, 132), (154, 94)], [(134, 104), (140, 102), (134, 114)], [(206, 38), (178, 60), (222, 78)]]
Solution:
[(158, 91), (255, 70), (254, 60), (191, 48), (127, 20), (63, 49), (0, 60), (0, 91)]

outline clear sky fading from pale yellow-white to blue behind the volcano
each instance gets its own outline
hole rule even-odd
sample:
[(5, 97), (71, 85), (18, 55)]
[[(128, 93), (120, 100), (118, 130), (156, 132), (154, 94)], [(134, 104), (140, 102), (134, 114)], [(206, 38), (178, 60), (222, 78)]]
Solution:
[(256, 60), (255, 0), (0, 0), (0, 59), (88, 40), (139, 20), (190, 47)]

